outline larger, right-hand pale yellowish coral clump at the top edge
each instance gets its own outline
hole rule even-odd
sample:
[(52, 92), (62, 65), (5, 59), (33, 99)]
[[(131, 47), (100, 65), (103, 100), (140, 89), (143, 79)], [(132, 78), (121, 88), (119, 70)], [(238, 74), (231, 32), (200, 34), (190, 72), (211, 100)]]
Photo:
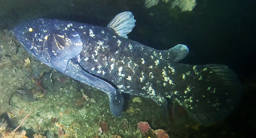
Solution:
[(192, 11), (197, 5), (196, 0), (175, 0), (171, 4), (171, 8), (178, 6), (181, 11)]

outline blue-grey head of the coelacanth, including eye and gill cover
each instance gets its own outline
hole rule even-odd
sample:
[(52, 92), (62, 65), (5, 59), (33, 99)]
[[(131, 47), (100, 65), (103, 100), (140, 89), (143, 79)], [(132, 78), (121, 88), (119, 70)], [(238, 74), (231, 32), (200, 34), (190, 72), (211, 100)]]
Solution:
[[(17, 25), (14, 36), (44, 64), (64, 72), (67, 62), (80, 54), (83, 42), (70, 21), (39, 18)], [(72, 25), (73, 26), (73, 25)]]

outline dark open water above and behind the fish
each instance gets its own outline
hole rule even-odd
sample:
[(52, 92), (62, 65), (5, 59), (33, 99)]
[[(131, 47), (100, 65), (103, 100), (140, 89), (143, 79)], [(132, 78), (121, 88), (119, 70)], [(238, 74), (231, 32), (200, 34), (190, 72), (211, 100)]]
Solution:
[[(255, 136), (255, 0), (197, 0), (191, 12), (171, 9), (170, 1), (147, 9), (144, 0), (0, 0), (0, 29), (39, 17), (106, 26), (118, 13), (131, 11), (137, 21), (129, 39), (155, 49), (185, 44), (190, 53), (182, 63), (223, 64), (237, 73), (243, 97), (224, 127), (237, 137)], [(214, 133), (214, 126), (206, 131)]]

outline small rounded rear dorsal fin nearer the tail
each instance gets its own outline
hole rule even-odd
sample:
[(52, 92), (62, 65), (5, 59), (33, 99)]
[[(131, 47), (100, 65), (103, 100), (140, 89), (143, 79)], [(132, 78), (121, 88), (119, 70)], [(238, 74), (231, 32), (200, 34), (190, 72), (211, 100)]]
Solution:
[(187, 56), (188, 52), (187, 46), (179, 44), (169, 49), (169, 58), (173, 62), (179, 62)]

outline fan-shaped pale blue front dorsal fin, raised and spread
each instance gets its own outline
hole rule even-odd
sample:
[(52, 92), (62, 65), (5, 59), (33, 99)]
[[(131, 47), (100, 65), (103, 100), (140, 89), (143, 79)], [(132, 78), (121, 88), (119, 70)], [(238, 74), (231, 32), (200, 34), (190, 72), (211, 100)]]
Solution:
[(112, 28), (118, 36), (128, 38), (126, 35), (133, 30), (135, 21), (130, 11), (124, 11), (116, 15), (107, 27)]

